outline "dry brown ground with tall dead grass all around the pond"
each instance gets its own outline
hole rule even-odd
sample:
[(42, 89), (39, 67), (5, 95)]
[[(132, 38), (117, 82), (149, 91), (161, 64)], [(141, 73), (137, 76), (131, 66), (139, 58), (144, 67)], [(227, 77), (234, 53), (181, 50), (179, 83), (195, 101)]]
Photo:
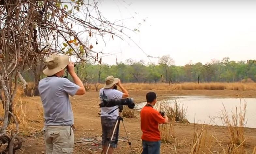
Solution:
[[(102, 85), (99, 86), (99, 88)], [(228, 97), (256, 97), (255, 83), (183, 83), (183, 84), (137, 84), (126, 83), (130, 96), (136, 102), (144, 102), (148, 91), (155, 91), (158, 95), (158, 103), (170, 95), (218, 95)], [(93, 88), (93, 86), (92, 86)], [(160, 97), (161, 96), (161, 97)], [(95, 89), (89, 90), (83, 96), (70, 97), (75, 118), (75, 145), (74, 154), (101, 153), (101, 124), (98, 115), (99, 98)], [(26, 97), (21, 89), (18, 90), (14, 103), (15, 115), (19, 122), (19, 135), (25, 140), (18, 154), (42, 154), (43, 142), (43, 109), (40, 97)], [(163, 106), (162, 106), (163, 107)], [(243, 109), (243, 108), (242, 108)], [(243, 112), (237, 112), (237, 114)], [(0, 114), (3, 108), (0, 105)], [(126, 111), (124, 124), (132, 142), (135, 153), (141, 151), (141, 130), (139, 111)], [(223, 108), (225, 117), (225, 110)], [(133, 117), (133, 118), (128, 118)], [(225, 126), (212, 126), (201, 124), (188, 124), (182, 122), (170, 122), (161, 125), (162, 145), (161, 153), (248, 153), (256, 151), (256, 129), (233, 127), (232, 121), (243, 122), (243, 116), (238, 119), (227, 119)], [(14, 129), (11, 124), (8, 133)], [(233, 135), (234, 131), (238, 135)], [(236, 143), (234, 140), (237, 140)], [(120, 139), (126, 140), (123, 126), (120, 125)], [(83, 141), (82, 143), (79, 143)], [(1, 148), (1, 147), (0, 147)], [(17, 154), (16, 153), (16, 154)], [(119, 147), (114, 153), (131, 153), (127, 143), (119, 142)]]

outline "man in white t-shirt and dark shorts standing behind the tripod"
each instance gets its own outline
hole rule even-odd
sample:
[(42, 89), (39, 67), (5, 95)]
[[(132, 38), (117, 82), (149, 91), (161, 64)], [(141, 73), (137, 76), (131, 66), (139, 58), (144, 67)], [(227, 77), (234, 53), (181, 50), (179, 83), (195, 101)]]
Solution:
[[(105, 78), (105, 86), (100, 89), (99, 91), (99, 97), (100, 97), (100, 103), (103, 101), (103, 97), (105, 97), (106, 100), (109, 99), (121, 99), (126, 98), (129, 96), (128, 92), (124, 87), (121, 85), (121, 81), (118, 78), (114, 78), (113, 76), (108, 76)], [(114, 89), (114, 86), (117, 85), (120, 87), (122, 92)], [(104, 95), (103, 95), (104, 92)], [(102, 107), (100, 108), (101, 111), (101, 127), (102, 127), (102, 148), (104, 154), (106, 154), (108, 149), (109, 140), (111, 138), (111, 135), (113, 133), (113, 129), (116, 123), (116, 119), (118, 117), (118, 110), (115, 110), (113, 113), (108, 114), (112, 110), (116, 109), (118, 106), (113, 107)], [(116, 133), (116, 132), (115, 132)], [(108, 154), (113, 153), (113, 148), (116, 148), (117, 144), (111, 143), (111, 146), (109, 148)]]

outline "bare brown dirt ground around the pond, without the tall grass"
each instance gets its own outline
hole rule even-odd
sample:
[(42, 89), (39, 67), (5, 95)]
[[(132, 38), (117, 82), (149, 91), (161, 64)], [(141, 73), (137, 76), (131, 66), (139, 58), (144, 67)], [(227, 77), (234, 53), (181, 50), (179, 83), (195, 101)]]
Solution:
[[(129, 91), (130, 97), (134, 98), (136, 102), (145, 101), (145, 94), (148, 91)], [(235, 90), (175, 90), (175, 91), (155, 91), (158, 95), (158, 100), (165, 98), (166, 95), (217, 95), (229, 97), (256, 97), (256, 91), (235, 91)], [(162, 96), (162, 97), (159, 97)], [(99, 98), (98, 92), (87, 92), (83, 96), (70, 97), (74, 118), (75, 118), (75, 142), (87, 141), (83, 143), (76, 143), (74, 146), (74, 154), (83, 153), (101, 153), (101, 124), (99, 117)], [(39, 111), (41, 108), (40, 97), (23, 97), (23, 104), (27, 107), (27, 119), (33, 132), (29, 137), (23, 136), (22, 149), (17, 151), (18, 154), (41, 154), (44, 153), (43, 128), (42, 121), (38, 120)], [(25, 106), (25, 105), (23, 105)], [(128, 131), (132, 148), (135, 153), (139, 153), (141, 149), (141, 130), (140, 117), (136, 112), (136, 118), (124, 118), (124, 124)], [(162, 144), (161, 153), (190, 153), (194, 130), (201, 128), (200, 124), (183, 124), (173, 122), (173, 142), (169, 144)], [(21, 126), (22, 127), (22, 126)], [(221, 145), (229, 143), (228, 129), (221, 126), (206, 125), (205, 130), (207, 134), (205, 143), (214, 135)], [(32, 130), (31, 130), (32, 132)], [(21, 128), (20, 136), (24, 135)], [(256, 129), (245, 128), (244, 137), (248, 138), (246, 141), (246, 149), (248, 153), (252, 153), (256, 146)], [(120, 125), (120, 140), (126, 140), (126, 135), (123, 126)], [(208, 143), (208, 142), (207, 142)], [(206, 143), (206, 144), (207, 144)], [(218, 153), (220, 146), (216, 141), (212, 141), (211, 151)], [(128, 143), (119, 142), (119, 147), (114, 149), (114, 153), (131, 153), (129, 151)], [(209, 151), (205, 150), (205, 153)]]

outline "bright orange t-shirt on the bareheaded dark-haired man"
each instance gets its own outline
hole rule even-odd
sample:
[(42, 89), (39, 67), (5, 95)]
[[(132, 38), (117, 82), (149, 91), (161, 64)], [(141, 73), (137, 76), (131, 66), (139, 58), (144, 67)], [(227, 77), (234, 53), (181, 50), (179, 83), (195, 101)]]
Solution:
[(151, 106), (144, 106), (141, 109), (141, 139), (144, 141), (161, 140), (158, 124), (163, 124), (165, 119)]

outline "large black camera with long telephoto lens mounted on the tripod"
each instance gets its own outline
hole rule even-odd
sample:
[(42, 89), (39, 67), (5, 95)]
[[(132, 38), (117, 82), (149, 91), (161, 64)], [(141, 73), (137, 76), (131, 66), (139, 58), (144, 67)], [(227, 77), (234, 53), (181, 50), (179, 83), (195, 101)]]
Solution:
[(135, 107), (134, 99), (133, 98), (123, 98), (123, 99), (110, 99), (106, 101), (103, 99), (103, 102), (99, 104), (99, 107), (113, 107), (113, 106), (120, 106), (120, 105), (127, 105), (128, 108), (133, 109)]

